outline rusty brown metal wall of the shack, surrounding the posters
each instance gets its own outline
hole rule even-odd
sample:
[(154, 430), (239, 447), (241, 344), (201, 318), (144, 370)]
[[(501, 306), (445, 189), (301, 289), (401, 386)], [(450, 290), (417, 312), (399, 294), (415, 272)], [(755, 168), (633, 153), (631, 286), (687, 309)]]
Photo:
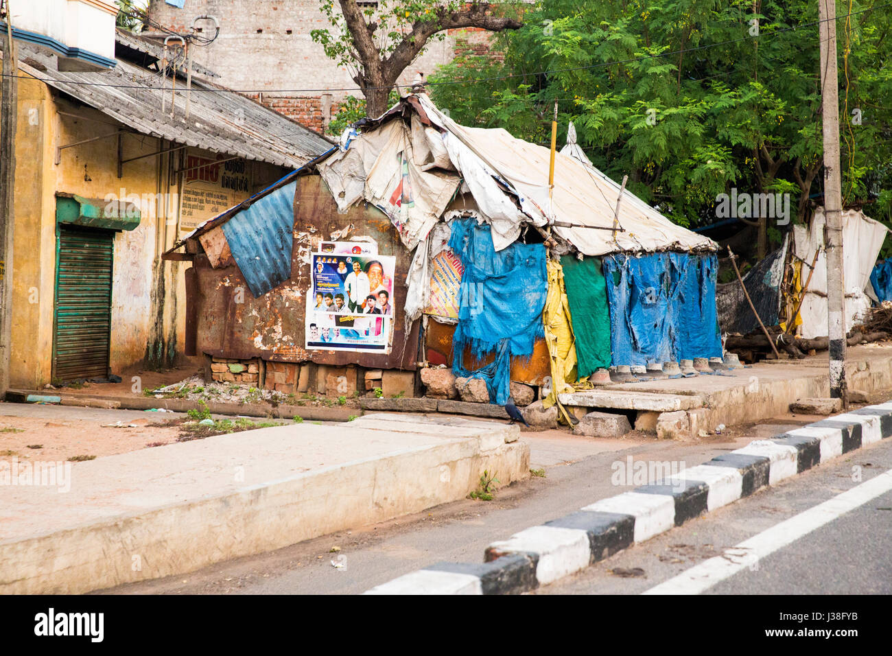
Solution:
[[(307, 351), (304, 317), (310, 288), (310, 253), (323, 240), (350, 241), (364, 236), (377, 242), (379, 254), (396, 256), (391, 353)], [(411, 253), (401, 244), (384, 212), (360, 204), (346, 214), (338, 214), (325, 182), (315, 174), (303, 176), (297, 180), (294, 193), (291, 278), (254, 298), (237, 267), (212, 269), (206, 255), (195, 257), (196, 284), (188, 302), (195, 307), (196, 350), (227, 358), (415, 370), (419, 322), (415, 322), (408, 338), (403, 330), (410, 262)]]

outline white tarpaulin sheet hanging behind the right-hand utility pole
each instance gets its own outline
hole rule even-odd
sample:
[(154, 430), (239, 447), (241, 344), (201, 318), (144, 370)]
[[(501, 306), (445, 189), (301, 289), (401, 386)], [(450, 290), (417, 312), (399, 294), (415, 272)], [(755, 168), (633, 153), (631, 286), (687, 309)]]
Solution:
[[(846, 331), (855, 324), (859, 314), (871, 306), (864, 288), (870, 285), (871, 270), (877, 262), (888, 228), (863, 215), (862, 212), (842, 212), (843, 283), (846, 296)], [(824, 247), (824, 210), (819, 207), (808, 228), (793, 226), (793, 252), (811, 265), (814, 252)], [(808, 278), (803, 266), (802, 278)], [(821, 251), (814, 263), (814, 274), (805, 291), (800, 310), (802, 336), (806, 339), (827, 335), (827, 253)]]

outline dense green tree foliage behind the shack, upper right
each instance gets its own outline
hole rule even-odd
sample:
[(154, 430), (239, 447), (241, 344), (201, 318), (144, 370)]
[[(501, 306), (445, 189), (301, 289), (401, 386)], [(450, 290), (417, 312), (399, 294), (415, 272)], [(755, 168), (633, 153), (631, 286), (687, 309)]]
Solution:
[[(822, 190), (817, 5), (766, 0), (759, 12), (744, 0), (540, 1), (523, 28), (495, 37), (504, 61), (458, 57), (429, 77), (429, 91), (459, 123), (541, 145), (557, 102), (559, 144), (572, 120), (599, 170), (628, 174), (634, 194), (681, 225), (714, 222), (715, 196), (731, 187), (790, 193), (791, 219), (801, 219)], [(887, 223), (890, 38), (888, 6), (838, 21), (845, 201), (871, 203), (867, 213)]]

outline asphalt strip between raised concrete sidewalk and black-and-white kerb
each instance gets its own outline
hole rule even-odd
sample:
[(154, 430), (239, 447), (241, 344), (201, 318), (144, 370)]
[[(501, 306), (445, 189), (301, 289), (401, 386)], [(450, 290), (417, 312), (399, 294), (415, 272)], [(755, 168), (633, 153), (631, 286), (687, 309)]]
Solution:
[[(481, 562), (485, 548), (496, 540), (631, 490), (638, 484), (629, 481), (629, 485), (617, 485), (612, 476), (615, 464), (624, 464), (629, 456), (635, 461), (671, 462), (683, 469), (793, 425), (765, 423), (745, 436), (713, 437), (691, 444), (653, 439), (628, 444), (566, 435), (536, 439), (522, 434), (522, 439), (531, 441), (533, 467), (544, 466), (547, 477), (533, 477), (501, 489), (492, 502), (444, 504), (425, 513), (320, 537), (277, 552), (104, 592), (359, 594), (438, 561)], [(338, 551), (330, 552), (334, 547)], [(337, 564), (343, 567), (335, 567)]]

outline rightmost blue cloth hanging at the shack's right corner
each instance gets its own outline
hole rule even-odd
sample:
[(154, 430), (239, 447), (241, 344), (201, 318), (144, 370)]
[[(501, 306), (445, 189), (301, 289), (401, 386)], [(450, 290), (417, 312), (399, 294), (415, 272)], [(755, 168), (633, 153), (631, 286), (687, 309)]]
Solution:
[(669, 261), (673, 360), (722, 357), (722, 335), (715, 310), (718, 258), (714, 253), (669, 253)]

